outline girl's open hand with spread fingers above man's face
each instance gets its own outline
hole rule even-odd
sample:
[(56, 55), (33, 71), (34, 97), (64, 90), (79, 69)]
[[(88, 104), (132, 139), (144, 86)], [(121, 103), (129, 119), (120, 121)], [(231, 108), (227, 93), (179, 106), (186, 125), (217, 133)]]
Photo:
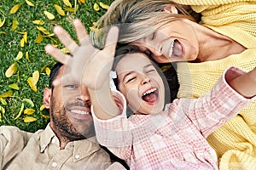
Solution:
[(67, 65), (67, 77), (72, 77), (76, 82), (82, 83), (90, 89), (102, 88), (102, 84), (109, 81), (109, 71), (113, 64), (116, 43), (118, 41), (118, 28), (112, 27), (108, 31), (105, 47), (100, 50), (93, 47), (90, 38), (80, 20), (74, 20), (79, 44), (69, 36), (61, 26), (55, 26), (55, 35), (70, 51), (70, 55), (64, 54), (60, 49), (47, 45), (45, 50), (56, 60)]

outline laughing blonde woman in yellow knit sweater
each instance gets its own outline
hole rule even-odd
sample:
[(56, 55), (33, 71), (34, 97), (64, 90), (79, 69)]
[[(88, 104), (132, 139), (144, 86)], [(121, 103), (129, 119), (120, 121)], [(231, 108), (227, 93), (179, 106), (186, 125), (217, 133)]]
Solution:
[[(199, 22), (189, 16), (189, 7), (201, 14)], [(116, 0), (97, 26), (118, 25), (119, 42), (137, 44), (159, 63), (189, 61), (177, 62), (177, 97), (198, 98), (228, 66), (255, 67), (255, 18), (255, 0)], [(99, 40), (97, 32), (92, 37), (101, 48), (104, 37)], [(256, 168), (256, 102), (207, 140), (220, 169)]]

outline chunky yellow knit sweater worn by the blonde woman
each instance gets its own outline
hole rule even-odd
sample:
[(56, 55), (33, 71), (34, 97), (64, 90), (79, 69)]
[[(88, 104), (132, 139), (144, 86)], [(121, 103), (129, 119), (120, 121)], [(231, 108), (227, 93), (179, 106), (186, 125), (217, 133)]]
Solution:
[[(247, 48), (241, 54), (203, 63), (178, 63), (178, 98), (198, 98), (205, 94), (230, 65), (246, 71), (256, 66), (255, 0), (173, 0), (192, 5), (203, 15), (201, 25), (234, 39)], [(219, 49), (221, 50), (221, 49)], [(256, 85), (255, 85), (256, 88)], [(216, 150), (219, 168), (256, 169), (256, 101), (208, 138)]]

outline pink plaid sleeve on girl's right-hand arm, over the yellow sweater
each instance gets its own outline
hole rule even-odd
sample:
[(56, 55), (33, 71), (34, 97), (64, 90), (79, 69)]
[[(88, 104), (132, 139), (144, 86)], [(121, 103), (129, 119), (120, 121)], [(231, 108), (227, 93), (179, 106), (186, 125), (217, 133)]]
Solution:
[(237, 67), (230, 67), (224, 71), (223, 76), (199, 99), (181, 99), (184, 113), (190, 121), (195, 124), (201, 133), (207, 137), (215, 129), (228, 122), (236, 116), (238, 111), (245, 107), (250, 101), (238, 94), (228, 84), (236, 77), (240, 77), (245, 71)]

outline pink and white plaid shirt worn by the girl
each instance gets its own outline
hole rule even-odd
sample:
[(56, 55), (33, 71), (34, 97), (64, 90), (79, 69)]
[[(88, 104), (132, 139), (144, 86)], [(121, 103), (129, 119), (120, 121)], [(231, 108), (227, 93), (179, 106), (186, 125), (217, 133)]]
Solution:
[[(126, 106), (121, 115), (109, 120), (93, 114), (96, 138), (131, 169), (218, 169), (217, 156), (206, 138), (252, 100), (227, 83), (243, 73), (230, 67), (205, 96), (176, 99), (156, 115), (127, 118)], [(114, 94), (118, 104), (126, 105), (122, 94)]]

